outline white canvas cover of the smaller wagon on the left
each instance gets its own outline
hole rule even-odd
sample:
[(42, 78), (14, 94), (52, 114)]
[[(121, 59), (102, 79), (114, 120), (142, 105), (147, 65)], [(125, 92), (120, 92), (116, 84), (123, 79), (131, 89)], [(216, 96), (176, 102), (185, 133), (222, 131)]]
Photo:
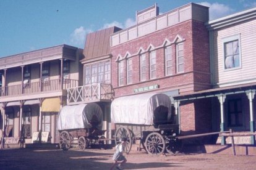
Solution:
[(66, 105), (59, 111), (58, 130), (91, 128), (91, 121), (98, 121), (97, 129), (102, 129), (102, 110), (96, 103)]

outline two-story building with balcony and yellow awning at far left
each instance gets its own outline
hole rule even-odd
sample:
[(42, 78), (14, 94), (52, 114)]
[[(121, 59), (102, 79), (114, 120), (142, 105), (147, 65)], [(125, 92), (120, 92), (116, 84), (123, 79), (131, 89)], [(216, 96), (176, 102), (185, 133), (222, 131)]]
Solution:
[(80, 59), (82, 50), (67, 45), (0, 59), (0, 128), (5, 144), (20, 138), (30, 144), (33, 133), (42, 131), (49, 132), (47, 142), (58, 142), (56, 121), (66, 105), (66, 90), (82, 84)]

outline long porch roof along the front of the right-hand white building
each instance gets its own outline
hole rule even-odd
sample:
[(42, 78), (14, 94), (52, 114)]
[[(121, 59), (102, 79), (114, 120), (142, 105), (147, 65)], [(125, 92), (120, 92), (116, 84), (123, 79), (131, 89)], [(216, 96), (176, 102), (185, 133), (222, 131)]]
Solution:
[(184, 95), (174, 95), (174, 100), (194, 100), (194, 99), (202, 99), (207, 97), (217, 97), (219, 95), (229, 95), (229, 94), (239, 94), (243, 92), (247, 92), (250, 90), (255, 91), (256, 83), (248, 83), (248, 84), (239, 84), (236, 86), (228, 86), (228, 87), (219, 87), (215, 89), (208, 89), (205, 91), (193, 92), (190, 94)]

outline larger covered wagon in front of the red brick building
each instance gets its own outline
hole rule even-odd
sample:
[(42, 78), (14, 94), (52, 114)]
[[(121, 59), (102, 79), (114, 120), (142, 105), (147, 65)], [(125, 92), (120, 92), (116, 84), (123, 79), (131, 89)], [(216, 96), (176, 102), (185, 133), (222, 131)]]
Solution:
[(171, 115), (171, 100), (165, 94), (140, 94), (119, 97), (111, 103), (111, 121), (115, 124), (115, 141), (126, 137), (126, 152), (139, 140), (151, 155), (176, 152), (179, 124)]

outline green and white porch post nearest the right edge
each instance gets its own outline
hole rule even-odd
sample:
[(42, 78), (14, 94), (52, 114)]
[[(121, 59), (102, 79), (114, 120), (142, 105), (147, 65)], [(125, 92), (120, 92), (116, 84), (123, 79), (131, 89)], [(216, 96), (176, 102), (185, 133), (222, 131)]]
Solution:
[[(255, 90), (246, 92), (250, 105), (250, 132), (254, 132), (254, 95)], [(250, 144), (255, 144), (255, 136), (250, 136)]]

